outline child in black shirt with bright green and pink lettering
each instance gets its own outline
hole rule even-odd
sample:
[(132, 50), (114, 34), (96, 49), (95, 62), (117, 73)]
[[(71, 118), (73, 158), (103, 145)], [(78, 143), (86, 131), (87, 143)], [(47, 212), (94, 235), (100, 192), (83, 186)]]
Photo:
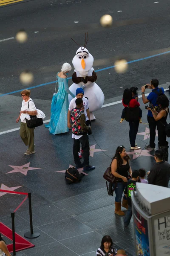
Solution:
[(139, 180), (139, 171), (135, 170), (132, 172), (132, 179), (129, 180), (125, 186), (125, 197), (127, 197), (128, 210), (126, 212), (126, 216), (124, 218), (124, 225), (127, 227), (132, 218), (132, 200), (131, 200), (131, 192), (136, 191), (136, 182)]

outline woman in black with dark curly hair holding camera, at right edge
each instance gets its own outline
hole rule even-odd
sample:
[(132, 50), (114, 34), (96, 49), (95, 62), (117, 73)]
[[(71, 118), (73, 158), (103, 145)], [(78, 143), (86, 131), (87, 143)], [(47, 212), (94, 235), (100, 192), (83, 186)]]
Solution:
[[(155, 109), (152, 106), (151, 108), (147, 108), (149, 111), (152, 112), (153, 118), (156, 121), (156, 126), (158, 129), (158, 146), (164, 153), (164, 160), (168, 160), (168, 142), (167, 134), (165, 132), (165, 127), (167, 126), (167, 115), (169, 113), (169, 99), (166, 95), (162, 94), (158, 96), (156, 105), (158, 108)], [(157, 110), (157, 111), (156, 111)]]

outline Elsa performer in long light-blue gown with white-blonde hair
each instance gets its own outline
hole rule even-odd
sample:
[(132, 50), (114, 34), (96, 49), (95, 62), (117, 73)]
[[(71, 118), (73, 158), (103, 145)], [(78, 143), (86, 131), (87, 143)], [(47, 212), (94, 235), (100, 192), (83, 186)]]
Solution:
[(51, 134), (62, 134), (68, 132), (68, 94), (74, 98), (74, 94), (68, 89), (67, 73), (71, 71), (71, 65), (67, 62), (62, 65), (61, 71), (57, 73), (58, 91), (54, 93), (51, 102), (51, 120), (46, 128)]

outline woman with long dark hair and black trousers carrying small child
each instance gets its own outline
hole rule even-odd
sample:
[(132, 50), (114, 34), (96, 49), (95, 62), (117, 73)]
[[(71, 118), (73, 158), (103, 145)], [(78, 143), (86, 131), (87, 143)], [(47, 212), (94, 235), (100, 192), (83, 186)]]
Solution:
[(122, 104), (125, 107), (125, 120), (129, 122), (129, 140), (130, 140), (130, 149), (141, 149), (135, 143), (136, 135), (139, 128), (139, 119), (140, 119), (140, 104), (136, 99), (132, 99), (132, 91), (130, 89), (125, 89), (123, 93)]

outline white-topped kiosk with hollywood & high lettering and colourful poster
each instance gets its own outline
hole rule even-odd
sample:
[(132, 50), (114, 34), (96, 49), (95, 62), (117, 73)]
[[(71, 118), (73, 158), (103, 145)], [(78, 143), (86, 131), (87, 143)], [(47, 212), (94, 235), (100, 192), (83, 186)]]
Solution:
[(136, 183), (131, 198), (136, 256), (170, 256), (170, 189)]

